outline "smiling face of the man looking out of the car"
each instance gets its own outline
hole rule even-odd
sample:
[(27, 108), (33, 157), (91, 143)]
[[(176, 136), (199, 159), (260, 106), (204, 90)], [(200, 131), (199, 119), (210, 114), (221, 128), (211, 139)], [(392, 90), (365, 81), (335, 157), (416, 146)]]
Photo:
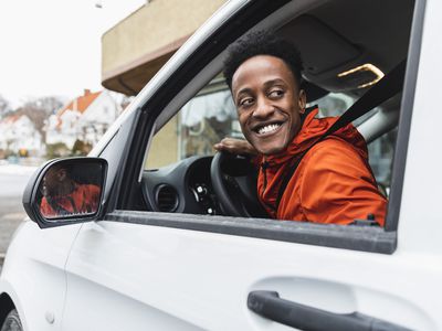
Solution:
[(301, 129), (305, 93), (278, 57), (257, 55), (239, 66), (232, 95), (245, 139), (263, 154), (283, 151)]

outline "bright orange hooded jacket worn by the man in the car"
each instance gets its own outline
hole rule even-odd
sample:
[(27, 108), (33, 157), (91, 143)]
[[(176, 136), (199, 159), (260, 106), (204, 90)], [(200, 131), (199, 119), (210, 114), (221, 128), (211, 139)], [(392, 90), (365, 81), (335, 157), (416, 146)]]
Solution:
[(257, 192), (267, 213), (278, 220), (349, 224), (369, 214), (383, 226), (386, 197), (378, 191), (368, 164), (364, 137), (350, 124), (312, 147), (290, 180), (276, 209), (281, 182), (294, 157), (308, 149), (336, 120), (308, 114), (287, 149), (261, 163)]

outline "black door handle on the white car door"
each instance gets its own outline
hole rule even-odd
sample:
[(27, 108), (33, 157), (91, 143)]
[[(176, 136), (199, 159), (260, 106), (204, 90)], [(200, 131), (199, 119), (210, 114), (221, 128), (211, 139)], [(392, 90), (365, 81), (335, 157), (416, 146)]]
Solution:
[(305, 331), (406, 331), (410, 330), (357, 311), (334, 313), (280, 298), (275, 291), (252, 291), (248, 307), (275, 322)]

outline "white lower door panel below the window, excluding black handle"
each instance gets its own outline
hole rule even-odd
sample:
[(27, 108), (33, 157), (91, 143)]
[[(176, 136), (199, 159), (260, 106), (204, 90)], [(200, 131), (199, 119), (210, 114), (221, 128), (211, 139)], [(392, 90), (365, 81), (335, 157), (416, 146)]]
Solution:
[[(64, 330), (95, 330), (104, 320), (112, 321), (106, 330), (150, 323), (171, 330), (278, 330), (246, 309), (252, 290), (436, 330), (438, 306), (408, 282), (433, 281), (438, 259), (417, 269), (417, 258), (101, 221), (84, 225), (71, 252)], [(106, 300), (113, 303), (104, 308)]]

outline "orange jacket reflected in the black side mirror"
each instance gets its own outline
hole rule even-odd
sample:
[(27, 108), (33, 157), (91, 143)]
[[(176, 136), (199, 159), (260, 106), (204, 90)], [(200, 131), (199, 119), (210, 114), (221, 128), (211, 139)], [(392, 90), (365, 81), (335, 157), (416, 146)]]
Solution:
[(75, 184), (67, 195), (53, 196), (51, 202), (43, 196), (40, 212), (44, 217), (94, 213), (99, 203), (101, 189), (97, 185)]

